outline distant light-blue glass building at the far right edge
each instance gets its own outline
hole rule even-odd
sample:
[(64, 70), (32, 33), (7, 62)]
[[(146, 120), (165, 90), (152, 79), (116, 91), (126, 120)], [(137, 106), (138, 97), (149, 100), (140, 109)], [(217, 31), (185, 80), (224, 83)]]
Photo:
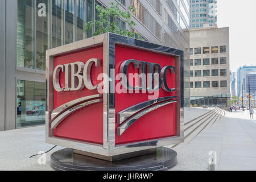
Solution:
[(237, 69), (237, 95), (246, 97), (246, 75), (250, 72), (256, 72), (256, 65), (243, 65)]

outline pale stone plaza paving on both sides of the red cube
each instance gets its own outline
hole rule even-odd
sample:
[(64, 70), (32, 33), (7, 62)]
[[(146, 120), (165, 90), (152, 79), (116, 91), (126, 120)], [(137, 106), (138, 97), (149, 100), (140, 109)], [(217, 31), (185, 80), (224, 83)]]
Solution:
[[(206, 113), (205, 109), (188, 109), (188, 118)], [(194, 114), (194, 115), (193, 115)], [(38, 164), (39, 151), (53, 146), (45, 143), (45, 127), (30, 127), (0, 132), (0, 170), (52, 170), (50, 155), (62, 149), (56, 147), (46, 155), (46, 164)], [(171, 170), (208, 170), (209, 151), (216, 151), (216, 170), (256, 170), (256, 115), (249, 112), (227, 113), (225, 118), (203, 130), (190, 143), (179, 144), (178, 164)]]

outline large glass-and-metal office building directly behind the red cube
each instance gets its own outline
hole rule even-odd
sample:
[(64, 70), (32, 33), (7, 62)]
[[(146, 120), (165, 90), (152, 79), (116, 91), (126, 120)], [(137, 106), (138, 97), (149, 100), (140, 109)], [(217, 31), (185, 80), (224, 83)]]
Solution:
[[(96, 6), (134, 6), (134, 30), (146, 41), (184, 51), (184, 103), (189, 105), (187, 0), (0, 0), (0, 131), (45, 123), (46, 50), (92, 36), (85, 23)], [(121, 18), (119, 28), (128, 28)]]

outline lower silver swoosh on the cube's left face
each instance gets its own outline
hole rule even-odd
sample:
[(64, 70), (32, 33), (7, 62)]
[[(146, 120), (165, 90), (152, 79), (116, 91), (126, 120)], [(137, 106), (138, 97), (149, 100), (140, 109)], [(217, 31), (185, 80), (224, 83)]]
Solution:
[(87, 107), (89, 105), (92, 104), (96, 104), (98, 102), (102, 102), (102, 99), (96, 99), (96, 100), (92, 100), (92, 101), (86, 101), (82, 104), (76, 105), (74, 107), (72, 107), (71, 109), (68, 109), (67, 111), (65, 111), (63, 114), (59, 115), (59, 117), (57, 117), (52, 123), (51, 123), (51, 129), (56, 129), (57, 126), (60, 125), (60, 123), (67, 118), (70, 114), (74, 113), (77, 110), (80, 110), (84, 107)]

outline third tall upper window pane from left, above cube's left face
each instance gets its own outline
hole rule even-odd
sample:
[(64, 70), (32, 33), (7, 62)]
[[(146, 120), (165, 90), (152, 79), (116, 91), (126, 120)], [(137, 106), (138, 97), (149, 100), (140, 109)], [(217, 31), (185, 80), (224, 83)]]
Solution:
[(63, 1), (52, 0), (52, 48), (63, 45)]

